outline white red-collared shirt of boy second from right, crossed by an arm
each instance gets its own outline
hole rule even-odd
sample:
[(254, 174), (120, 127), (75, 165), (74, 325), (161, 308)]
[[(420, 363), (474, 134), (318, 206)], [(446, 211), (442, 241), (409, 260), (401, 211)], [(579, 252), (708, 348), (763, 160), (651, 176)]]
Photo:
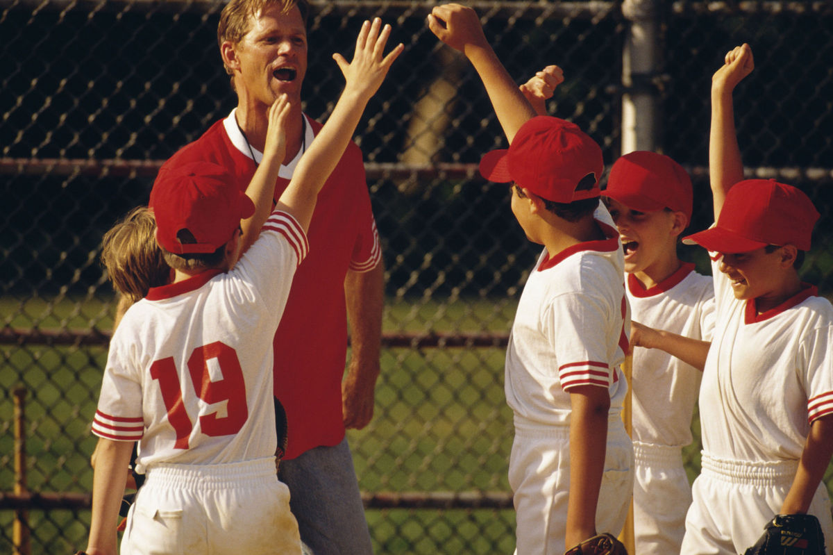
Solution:
[[(626, 276), (631, 318), (686, 338), (711, 341), (715, 293), (711, 276), (683, 263), (671, 276), (646, 289), (636, 276)], [(661, 349), (633, 353), (633, 438), (642, 443), (683, 447), (691, 443), (691, 415), (700, 390), (698, 368)]]

